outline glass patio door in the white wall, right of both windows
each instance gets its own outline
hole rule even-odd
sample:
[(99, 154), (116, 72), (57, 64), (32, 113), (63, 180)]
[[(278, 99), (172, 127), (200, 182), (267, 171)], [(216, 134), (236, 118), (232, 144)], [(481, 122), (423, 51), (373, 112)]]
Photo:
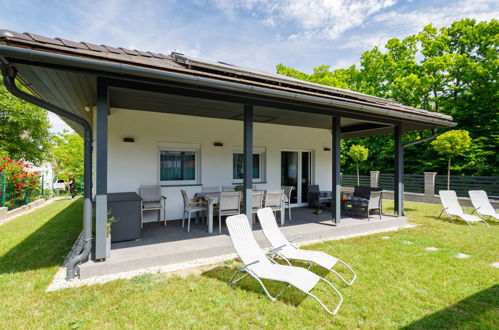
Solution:
[(308, 202), (308, 185), (311, 177), (310, 151), (281, 152), (281, 186), (293, 186), (291, 204)]

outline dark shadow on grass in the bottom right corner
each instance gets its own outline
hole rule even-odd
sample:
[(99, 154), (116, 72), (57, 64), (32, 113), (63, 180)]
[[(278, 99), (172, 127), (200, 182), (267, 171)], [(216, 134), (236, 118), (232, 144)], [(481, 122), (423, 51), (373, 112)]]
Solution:
[[(490, 310), (497, 311), (499, 308), (498, 297), (499, 285), (494, 285), (402, 329), (476, 329), (480, 327), (478, 325), (480, 321), (487, 322), (484, 320), (484, 313)], [(491, 326), (495, 322), (492, 317), (490, 320)]]

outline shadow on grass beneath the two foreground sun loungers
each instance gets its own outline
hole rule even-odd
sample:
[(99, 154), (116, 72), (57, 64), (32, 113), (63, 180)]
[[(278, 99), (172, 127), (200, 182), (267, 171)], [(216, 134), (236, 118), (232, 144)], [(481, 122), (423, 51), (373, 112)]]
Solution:
[[(231, 279), (232, 275), (235, 273), (236, 270), (237, 267), (219, 266), (207, 272), (204, 272), (202, 275), (219, 280), (224, 283), (228, 283), (228, 281)], [(313, 267), (311, 271), (313, 271), (314, 273), (316, 273), (321, 277), (324, 277), (328, 273), (327, 270), (320, 267)], [(246, 273), (239, 273), (238, 278), (244, 274)], [(287, 284), (284, 282), (270, 281), (264, 279), (262, 279), (262, 283), (265, 285), (269, 293), (274, 297), (287, 286)], [(248, 292), (257, 293), (261, 295), (262, 298), (268, 299), (267, 294), (263, 290), (262, 286), (258, 283), (257, 280), (255, 280), (253, 277), (249, 275), (246, 276), (246, 278), (244, 278), (243, 280), (237, 282), (236, 284), (233, 284), (232, 287), (239, 288)], [(288, 305), (298, 307), (307, 297), (308, 296), (302, 291), (296, 289), (293, 286), (290, 286), (288, 289), (286, 289), (286, 291), (284, 291), (284, 293), (278, 298), (278, 300), (283, 301)]]

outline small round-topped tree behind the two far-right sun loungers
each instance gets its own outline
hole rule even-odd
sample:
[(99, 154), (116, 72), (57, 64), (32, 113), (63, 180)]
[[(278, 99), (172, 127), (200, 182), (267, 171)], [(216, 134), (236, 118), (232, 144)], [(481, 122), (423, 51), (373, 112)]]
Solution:
[(447, 166), (447, 190), (450, 189), (450, 164), (452, 156), (461, 156), (471, 146), (470, 133), (463, 130), (447, 131), (431, 142), (440, 154), (449, 157)]

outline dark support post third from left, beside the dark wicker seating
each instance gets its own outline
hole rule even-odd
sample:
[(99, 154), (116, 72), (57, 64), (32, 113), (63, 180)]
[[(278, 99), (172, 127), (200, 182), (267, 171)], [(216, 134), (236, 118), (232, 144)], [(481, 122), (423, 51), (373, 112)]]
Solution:
[(341, 117), (333, 116), (332, 134), (332, 196), (331, 212), (333, 223), (339, 224), (341, 221), (341, 178), (340, 178), (340, 141), (341, 141)]

